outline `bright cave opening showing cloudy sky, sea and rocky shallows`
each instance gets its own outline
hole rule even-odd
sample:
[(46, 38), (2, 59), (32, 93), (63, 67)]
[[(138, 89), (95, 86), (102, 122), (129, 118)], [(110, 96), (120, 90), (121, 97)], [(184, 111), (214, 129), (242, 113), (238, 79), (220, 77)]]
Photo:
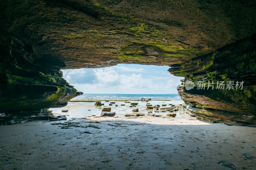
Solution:
[[(183, 77), (170, 74), (169, 66), (117, 64), (102, 68), (64, 69), (63, 78), (84, 94), (76, 96), (62, 108), (50, 108), (55, 114), (68, 110), (70, 117), (100, 115), (102, 108), (111, 107), (124, 116), (138, 103), (140, 113), (147, 114), (147, 106), (171, 107), (184, 104), (177, 86)], [(95, 106), (100, 102), (102, 106)], [(112, 104), (111, 104), (112, 103)], [(103, 105), (104, 104), (104, 105)], [(156, 108), (155, 111), (158, 109)], [(151, 111), (151, 110), (150, 110)], [(158, 112), (165, 116), (165, 112)]]

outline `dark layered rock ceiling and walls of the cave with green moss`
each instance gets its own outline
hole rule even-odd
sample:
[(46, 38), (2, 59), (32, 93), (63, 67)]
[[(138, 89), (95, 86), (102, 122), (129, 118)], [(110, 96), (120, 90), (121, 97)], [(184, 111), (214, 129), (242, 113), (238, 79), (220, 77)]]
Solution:
[(191, 81), (244, 81), (239, 91), (179, 94), (197, 108), (255, 116), (253, 0), (10, 0), (0, 10), (0, 112), (66, 105), (81, 93), (60, 69), (133, 63), (168, 65)]

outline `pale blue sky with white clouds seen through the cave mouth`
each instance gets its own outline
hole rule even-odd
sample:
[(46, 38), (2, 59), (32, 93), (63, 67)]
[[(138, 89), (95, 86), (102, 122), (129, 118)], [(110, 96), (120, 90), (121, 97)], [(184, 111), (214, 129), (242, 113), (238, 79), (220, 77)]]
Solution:
[(61, 70), (63, 77), (84, 93), (178, 94), (182, 77), (170, 74), (169, 66), (118, 64), (103, 68)]

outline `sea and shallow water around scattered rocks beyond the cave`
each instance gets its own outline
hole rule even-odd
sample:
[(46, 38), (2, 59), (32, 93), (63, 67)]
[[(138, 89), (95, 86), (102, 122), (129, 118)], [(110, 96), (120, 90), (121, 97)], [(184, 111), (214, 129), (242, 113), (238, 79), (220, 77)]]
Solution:
[[(94, 97), (92, 97), (94, 96)], [(142, 95), (140, 95), (142, 96)], [(106, 97), (106, 98), (104, 98)], [(115, 98), (116, 97), (116, 98)], [(143, 96), (144, 98), (146, 98), (146, 95)], [(151, 110), (146, 110), (147, 103), (152, 104), (152, 106), (159, 104), (161, 107), (169, 107), (169, 103), (172, 104), (183, 104), (183, 100), (181, 100), (181, 98), (179, 97), (179, 95), (163, 95), (163, 96), (157, 96), (157, 95), (147, 95), (147, 98), (151, 98), (151, 99), (156, 99), (156, 100), (152, 100), (152, 101), (134, 101), (136, 99), (140, 99), (140, 97), (136, 97), (135, 95), (130, 95), (128, 96), (127, 94), (125, 94), (124, 96), (120, 95), (120, 94), (113, 94), (111, 96), (111, 94), (103, 94), (101, 96), (101, 94), (89, 94), (88, 96), (82, 95), (82, 96), (78, 96), (75, 97), (74, 99), (72, 99), (72, 101), (80, 101), (80, 100), (103, 100), (101, 103), (104, 103), (103, 106), (99, 107), (99, 106), (95, 106), (94, 103), (95, 102), (68, 102), (68, 105), (62, 108), (50, 108), (49, 110), (52, 110), (53, 113), (55, 114), (62, 114), (62, 115), (69, 115), (70, 117), (84, 117), (84, 116), (92, 116), (92, 115), (96, 115), (96, 116), (100, 116), (100, 113), (102, 111), (102, 108), (104, 107), (111, 107), (111, 112), (116, 112), (116, 116), (121, 116), (123, 117), (125, 114), (127, 113), (132, 113), (132, 109), (134, 108), (138, 108), (140, 113), (145, 113), (147, 114), (148, 111)], [(111, 101), (109, 99), (112, 100), (127, 100), (128, 98), (132, 98), (134, 100), (128, 100), (131, 103), (138, 103), (138, 105), (136, 107), (129, 107), (130, 103), (124, 103), (124, 101)], [(170, 100), (170, 101), (161, 101), (162, 100)], [(105, 102), (105, 100), (109, 100), (109, 102)], [(112, 106), (109, 106), (110, 102), (115, 102), (115, 104), (113, 104)], [(125, 106), (121, 106), (121, 104), (125, 104)], [(162, 106), (162, 104), (167, 104), (166, 106)], [(116, 105), (118, 105), (116, 107)], [(63, 109), (68, 109), (68, 112), (61, 112), (61, 110)], [(154, 112), (154, 111), (153, 111)], [(166, 115), (168, 112), (156, 112), (156, 114), (158, 115)], [(177, 115), (177, 117), (179, 117), (179, 115)]]

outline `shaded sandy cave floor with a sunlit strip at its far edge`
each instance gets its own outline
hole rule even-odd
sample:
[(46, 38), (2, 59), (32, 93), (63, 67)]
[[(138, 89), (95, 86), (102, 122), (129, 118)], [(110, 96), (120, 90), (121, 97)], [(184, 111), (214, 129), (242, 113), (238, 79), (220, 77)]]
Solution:
[(179, 117), (0, 126), (0, 169), (255, 169), (252, 127)]

